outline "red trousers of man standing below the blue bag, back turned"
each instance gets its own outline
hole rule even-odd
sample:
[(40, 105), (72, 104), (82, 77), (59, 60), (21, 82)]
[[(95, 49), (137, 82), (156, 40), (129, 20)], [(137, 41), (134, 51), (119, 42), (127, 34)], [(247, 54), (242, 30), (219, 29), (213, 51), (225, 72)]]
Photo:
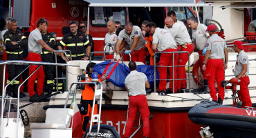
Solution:
[(149, 137), (149, 106), (145, 95), (129, 96), (128, 121), (125, 126), (125, 137), (130, 137), (131, 127), (134, 124), (137, 110), (143, 119), (143, 136)]

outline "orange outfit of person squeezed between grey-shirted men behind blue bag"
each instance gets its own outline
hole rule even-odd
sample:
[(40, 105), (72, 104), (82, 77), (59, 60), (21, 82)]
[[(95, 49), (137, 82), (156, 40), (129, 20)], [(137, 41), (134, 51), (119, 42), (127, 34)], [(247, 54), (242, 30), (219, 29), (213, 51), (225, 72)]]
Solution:
[(153, 42), (152, 35), (146, 33), (145, 34), (145, 46), (146, 46), (147, 51), (148, 51), (149, 65), (154, 66), (154, 52), (152, 50), (152, 42)]

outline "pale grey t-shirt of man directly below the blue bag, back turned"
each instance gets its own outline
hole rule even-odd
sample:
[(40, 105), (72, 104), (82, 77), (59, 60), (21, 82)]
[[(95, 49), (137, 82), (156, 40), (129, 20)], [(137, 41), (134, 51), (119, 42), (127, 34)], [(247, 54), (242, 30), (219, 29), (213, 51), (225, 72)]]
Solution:
[(129, 90), (129, 96), (146, 95), (147, 76), (143, 72), (133, 70), (125, 78), (125, 86)]

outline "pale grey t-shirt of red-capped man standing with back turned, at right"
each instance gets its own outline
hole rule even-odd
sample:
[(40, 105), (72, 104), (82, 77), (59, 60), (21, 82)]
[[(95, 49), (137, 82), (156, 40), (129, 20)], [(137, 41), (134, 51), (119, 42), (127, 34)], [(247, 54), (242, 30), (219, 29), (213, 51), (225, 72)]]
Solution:
[(210, 50), (210, 57), (212, 58), (225, 60), (224, 48), (227, 48), (226, 41), (218, 34), (213, 34), (207, 40), (206, 49)]

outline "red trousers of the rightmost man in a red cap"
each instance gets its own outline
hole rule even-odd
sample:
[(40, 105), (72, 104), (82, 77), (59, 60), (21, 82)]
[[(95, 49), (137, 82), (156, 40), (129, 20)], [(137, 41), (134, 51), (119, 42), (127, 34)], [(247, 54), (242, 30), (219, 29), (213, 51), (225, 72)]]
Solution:
[(240, 90), (238, 90), (238, 98), (240, 101), (242, 101), (241, 108), (244, 108), (244, 106), (250, 106), (252, 107), (252, 101), (250, 101), (250, 94), (249, 94), (249, 89), (248, 85), (250, 84), (250, 79), (248, 76), (246, 77), (241, 77), (240, 78), (240, 83), (237, 83), (237, 85), (240, 85)]

